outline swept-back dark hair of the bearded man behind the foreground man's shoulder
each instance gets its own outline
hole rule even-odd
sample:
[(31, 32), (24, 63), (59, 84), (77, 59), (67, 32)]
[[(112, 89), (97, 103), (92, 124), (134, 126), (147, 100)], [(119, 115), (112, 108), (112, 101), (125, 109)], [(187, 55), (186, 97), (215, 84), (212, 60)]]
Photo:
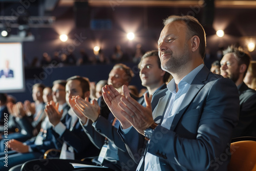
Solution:
[(245, 64), (246, 65), (246, 70), (244, 72), (244, 76), (246, 75), (246, 72), (248, 70), (250, 61), (251, 61), (251, 56), (242, 48), (242, 47), (236, 47), (235, 45), (231, 45), (227, 47), (227, 49), (223, 50), (223, 55), (232, 53), (234, 54), (234, 57), (237, 58), (238, 60), (238, 65)]

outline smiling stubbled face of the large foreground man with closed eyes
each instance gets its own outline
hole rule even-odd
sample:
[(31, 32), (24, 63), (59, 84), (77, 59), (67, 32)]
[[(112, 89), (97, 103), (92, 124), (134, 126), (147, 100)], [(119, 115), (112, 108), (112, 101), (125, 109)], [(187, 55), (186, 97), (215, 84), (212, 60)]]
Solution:
[(181, 72), (189, 61), (187, 26), (183, 21), (167, 24), (158, 40), (161, 67), (169, 73)]

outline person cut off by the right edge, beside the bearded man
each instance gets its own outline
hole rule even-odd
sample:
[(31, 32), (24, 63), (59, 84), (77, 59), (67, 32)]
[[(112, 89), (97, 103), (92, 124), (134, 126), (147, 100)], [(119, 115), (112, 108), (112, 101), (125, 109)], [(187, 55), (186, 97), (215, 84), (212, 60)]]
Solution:
[(247, 73), (244, 77), (244, 83), (251, 89), (256, 90), (256, 61), (251, 61)]

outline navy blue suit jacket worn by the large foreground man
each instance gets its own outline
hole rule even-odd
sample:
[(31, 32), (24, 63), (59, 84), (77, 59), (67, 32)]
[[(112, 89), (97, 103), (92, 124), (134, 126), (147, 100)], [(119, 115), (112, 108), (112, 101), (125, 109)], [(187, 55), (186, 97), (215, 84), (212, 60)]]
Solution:
[[(155, 119), (160, 123), (172, 93), (165, 89), (155, 96), (162, 96), (153, 111), (153, 118), (161, 116)], [(231, 155), (228, 144), (238, 117), (236, 85), (204, 66), (191, 83), (170, 130), (159, 124), (146, 153), (159, 158), (161, 170), (227, 170)], [(139, 161), (144, 140), (134, 139), (138, 133), (131, 131), (124, 135), (119, 130), (127, 150)]]

